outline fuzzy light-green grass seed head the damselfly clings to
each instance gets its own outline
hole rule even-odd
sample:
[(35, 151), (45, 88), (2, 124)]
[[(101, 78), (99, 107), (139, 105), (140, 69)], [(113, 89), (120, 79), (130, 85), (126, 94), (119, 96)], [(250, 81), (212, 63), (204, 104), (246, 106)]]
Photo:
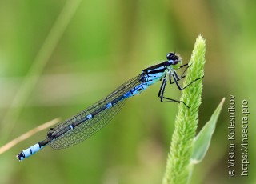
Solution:
[[(197, 38), (189, 62), (184, 86), (201, 78), (204, 75), (206, 42), (201, 35)], [(198, 108), (201, 104), (202, 80), (192, 83), (182, 91), (182, 103), (178, 106), (175, 120), (174, 134), (170, 144), (170, 153), (166, 163), (166, 173), (162, 183), (182, 184), (187, 183), (190, 170), (190, 158), (193, 151), (193, 141), (198, 126)]]

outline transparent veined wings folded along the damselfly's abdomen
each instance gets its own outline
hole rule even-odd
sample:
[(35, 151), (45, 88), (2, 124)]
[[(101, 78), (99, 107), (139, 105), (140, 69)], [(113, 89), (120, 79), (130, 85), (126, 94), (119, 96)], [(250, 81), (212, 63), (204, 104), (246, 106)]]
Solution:
[[(90, 106), (74, 117), (67, 119), (65, 122), (58, 124), (58, 126), (54, 127), (54, 129), (49, 130), (48, 134), (58, 134), (57, 138), (49, 143), (49, 146), (54, 149), (62, 149), (78, 144), (79, 142), (84, 141), (86, 138), (90, 138), (91, 135), (102, 129), (103, 126), (106, 126), (106, 124), (110, 122), (110, 120), (114, 118), (116, 114), (118, 114), (119, 110), (122, 109), (124, 102), (126, 102), (126, 99), (116, 102), (111, 108), (104, 110), (101, 110), (101, 108), (106, 106), (106, 104), (109, 102), (113, 102), (114, 99), (122, 97), (123, 94), (126, 94), (126, 92), (133, 89), (135, 86), (138, 86), (140, 83), (141, 74), (130, 79), (130, 81), (124, 83), (122, 86), (119, 86), (118, 89), (114, 90), (106, 98), (103, 98), (93, 106)], [(82, 122), (82, 119), (86, 118), (86, 116), (89, 114), (93, 114), (97, 110), (99, 111), (98, 114), (94, 115), (93, 118), (86, 119), (86, 121)], [(82, 123), (75, 126), (74, 129), (71, 130), (70, 126), (74, 122)], [(65, 133), (62, 134), (62, 132)]]

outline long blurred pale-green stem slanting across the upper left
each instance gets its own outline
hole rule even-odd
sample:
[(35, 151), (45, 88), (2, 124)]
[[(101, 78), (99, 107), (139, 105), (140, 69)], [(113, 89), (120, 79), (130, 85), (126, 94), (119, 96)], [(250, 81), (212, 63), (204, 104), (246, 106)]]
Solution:
[(71, 18), (74, 16), (81, 0), (68, 0), (59, 14), (56, 22), (52, 26), (45, 42), (43, 42), (41, 49), (38, 51), (34, 59), (33, 65), (30, 66), (29, 72), (26, 74), (22, 84), (20, 85), (13, 101), (10, 103), (9, 110), (7, 110), (5, 117), (2, 120), (1, 127), (1, 144), (6, 142), (11, 130), (14, 128), (22, 108), (25, 106), (27, 99), (30, 97), (31, 91), (38, 82), (38, 78), (42, 74), (51, 54), (57, 46), (62, 34), (66, 30)]

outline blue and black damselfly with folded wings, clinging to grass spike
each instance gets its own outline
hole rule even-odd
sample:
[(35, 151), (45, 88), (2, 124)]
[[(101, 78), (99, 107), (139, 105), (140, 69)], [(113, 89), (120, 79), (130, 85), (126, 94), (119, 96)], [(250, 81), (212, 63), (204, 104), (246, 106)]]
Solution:
[[(45, 140), (36, 143), (34, 146), (30, 146), (26, 150), (22, 150), (22, 152), (17, 155), (18, 160), (22, 161), (30, 157), (30, 155), (38, 152), (38, 150), (41, 150), (47, 145), (54, 149), (62, 149), (84, 141), (110, 122), (122, 108), (127, 98), (142, 93), (143, 90), (146, 90), (149, 86), (158, 81), (162, 81), (158, 92), (158, 97), (161, 102), (181, 103), (182, 101), (164, 97), (167, 81), (166, 76), (169, 75), (170, 84), (175, 83), (179, 90), (184, 90), (187, 86), (200, 78), (195, 79), (182, 88), (179, 86), (178, 81), (185, 77), (185, 72), (189, 66), (187, 66), (187, 64), (183, 65), (186, 66), (186, 69), (181, 76), (178, 76), (175, 70), (183, 67), (181, 66), (182, 59), (175, 53), (167, 54), (166, 58), (166, 61), (142, 70), (141, 74), (125, 82), (122, 86), (119, 86), (118, 89), (114, 90), (106, 98), (96, 102), (93, 106), (82, 110), (82, 112), (67, 119), (65, 122), (61, 122), (58, 126), (50, 128)], [(187, 106), (185, 102), (182, 103)], [(187, 107), (189, 108), (189, 106)]]

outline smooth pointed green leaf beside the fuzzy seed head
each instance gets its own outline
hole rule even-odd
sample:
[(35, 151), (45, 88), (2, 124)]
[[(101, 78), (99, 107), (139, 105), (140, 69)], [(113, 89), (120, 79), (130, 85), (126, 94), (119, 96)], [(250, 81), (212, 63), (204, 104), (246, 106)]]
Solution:
[(205, 157), (207, 150), (210, 146), (211, 138), (214, 134), (215, 126), (218, 120), (218, 116), (222, 110), (223, 103), (225, 98), (222, 99), (222, 102), (218, 105), (214, 114), (210, 117), (209, 122), (203, 126), (202, 130), (194, 138), (194, 150), (190, 162), (192, 164), (198, 164)]

